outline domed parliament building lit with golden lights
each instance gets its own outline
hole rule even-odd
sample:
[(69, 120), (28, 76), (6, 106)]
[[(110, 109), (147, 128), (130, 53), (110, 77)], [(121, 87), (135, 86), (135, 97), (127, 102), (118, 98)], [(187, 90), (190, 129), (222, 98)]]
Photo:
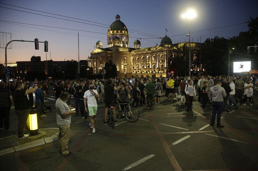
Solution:
[[(120, 71), (120, 78), (166, 77), (168, 58), (171, 55), (172, 57), (181, 56), (182, 44), (189, 46), (189, 43), (172, 44), (171, 39), (166, 35), (162, 38), (160, 45), (141, 48), (141, 42), (135, 40), (131, 48), (128, 29), (118, 14), (116, 20), (108, 28), (107, 44), (107, 48), (103, 48), (103, 43), (97, 41), (96, 49), (87, 59), (88, 66), (93, 68), (93, 74), (97, 74), (104, 69), (103, 64), (111, 60)], [(192, 48), (196, 44), (193, 43)]]

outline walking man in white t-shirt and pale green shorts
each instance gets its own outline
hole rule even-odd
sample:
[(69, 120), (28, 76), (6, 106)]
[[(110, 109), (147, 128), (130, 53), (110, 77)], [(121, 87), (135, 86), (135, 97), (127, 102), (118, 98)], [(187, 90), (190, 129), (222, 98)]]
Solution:
[(98, 109), (96, 98), (99, 98), (99, 94), (98, 94), (97, 90), (94, 90), (93, 83), (89, 83), (89, 90), (87, 90), (84, 93), (83, 97), (84, 97), (85, 111), (87, 112), (86, 102), (87, 102), (88, 109), (89, 109), (89, 116), (90, 116), (89, 125), (90, 125), (90, 128), (92, 128), (92, 133), (95, 133), (96, 129), (94, 127), (94, 118), (97, 114), (97, 109)]

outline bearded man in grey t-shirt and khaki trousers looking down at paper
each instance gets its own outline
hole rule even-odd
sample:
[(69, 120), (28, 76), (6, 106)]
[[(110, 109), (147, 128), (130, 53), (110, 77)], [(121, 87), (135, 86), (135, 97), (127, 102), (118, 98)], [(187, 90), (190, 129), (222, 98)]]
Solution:
[(68, 141), (70, 133), (71, 114), (76, 113), (76, 110), (71, 111), (73, 107), (68, 107), (66, 101), (69, 99), (70, 93), (63, 92), (56, 101), (57, 124), (59, 127), (58, 134), (58, 151), (62, 156), (71, 156), (73, 152), (68, 151)]

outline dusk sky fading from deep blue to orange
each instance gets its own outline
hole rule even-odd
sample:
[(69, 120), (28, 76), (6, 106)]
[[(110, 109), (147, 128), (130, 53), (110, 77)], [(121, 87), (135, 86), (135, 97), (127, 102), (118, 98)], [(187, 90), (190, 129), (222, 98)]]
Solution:
[[(182, 19), (181, 15), (184, 11), (191, 8), (197, 13), (197, 17), (191, 20), (191, 32), (200, 30), (217, 28), (227, 26), (231, 24), (238, 24), (246, 22), (250, 16), (253, 18), (258, 16), (258, 1), (242, 1), (242, 0), (198, 0), (198, 1), (186, 1), (186, 0), (130, 0), (130, 1), (71, 1), (71, 0), (1, 0), (2, 3), (10, 5), (20, 6), (24, 8), (30, 8), (34, 10), (54, 13), (58, 15), (65, 15), (78, 19), (89, 20), (97, 23), (110, 25), (115, 21), (115, 15), (119, 14), (121, 21), (127, 26), (129, 31), (129, 45), (133, 47), (133, 41), (136, 38), (151, 38), (146, 33), (157, 35), (155, 37), (164, 37), (165, 28), (167, 28), (168, 36), (171, 37), (173, 43), (177, 43), (180, 40), (185, 41), (188, 37), (186, 35), (175, 36), (188, 32), (188, 20)], [(58, 18), (65, 18), (61, 16), (41, 13), (37, 11), (30, 11), (14, 6), (8, 6), (0, 4), (0, 6), (17, 9), (21, 11), (29, 11), (32, 13), (50, 15)], [(25, 25), (35, 28), (29, 28), (14, 24), (7, 24), (0, 22), (0, 32), (12, 33), (12, 40), (30, 40), (33, 41), (38, 38), (39, 41), (48, 41), (48, 60), (50, 59), (49, 53), (51, 52), (51, 58), (54, 61), (60, 60), (78, 60), (78, 36), (80, 35), (80, 59), (87, 59), (90, 53), (94, 50), (94, 45), (98, 40), (104, 43), (103, 47), (107, 47), (107, 25), (96, 24), (104, 27), (93, 26), (94, 24), (86, 21), (76, 20), (89, 24), (76, 23), (72, 21), (66, 21), (62, 19), (55, 19), (46, 16), (40, 16), (35, 14), (29, 14), (21, 11), (14, 11), (0, 7), (0, 20), (27, 23), (27, 24), (38, 24), (53, 27), (71, 28), (92, 32), (83, 32), (76, 30), (65, 30), (58, 28), (48, 28), (42, 26)], [(69, 19), (69, 18), (65, 18)], [(36, 29), (42, 28), (42, 29)], [(203, 32), (192, 33), (193, 40), (197, 42), (197, 38), (200, 42), (206, 38), (220, 36), (220, 37), (231, 37), (237, 36), (239, 32), (246, 31), (247, 24), (240, 24), (236, 26), (219, 28), (214, 30), (208, 30)], [(48, 31), (52, 30), (52, 31)], [(136, 34), (135, 30), (145, 33)], [(58, 31), (58, 32), (53, 32)], [(60, 33), (66, 32), (66, 33)], [(72, 35), (76, 34), (76, 35)], [(145, 34), (145, 35), (141, 35)], [(91, 36), (91, 37), (87, 37)], [(1, 35), (2, 38), (2, 35)], [(8, 39), (8, 38), (7, 38)], [(10, 38), (9, 38), (10, 39)], [(161, 39), (141, 39), (141, 48), (155, 46), (156, 43), (160, 44)], [(191, 38), (192, 40), (192, 38)], [(2, 41), (1, 41), (2, 43)], [(2, 46), (1, 46), (2, 47)], [(0, 63), (4, 63), (4, 49), (0, 49)], [(35, 50), (34, 43), (27, 42), (13, 42), (12, 49), (7, 50), (8, 63), (16, 61), (30, 61), (30, 57), (41, 56), (41, 60), (45, 60), (46, 53), (44, 52), (44, 44), (39, 45), (39, 50)]]

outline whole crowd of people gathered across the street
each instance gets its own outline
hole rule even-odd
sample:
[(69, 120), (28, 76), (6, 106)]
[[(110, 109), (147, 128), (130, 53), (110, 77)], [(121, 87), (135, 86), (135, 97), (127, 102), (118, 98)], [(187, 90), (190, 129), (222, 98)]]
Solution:
[[(98, 104), (105, 102), (105, 115), (103, 124), (107, 125), (108, 110), (112, 103), (129, 103), (136, 108), (145, 106), (146, 109), (153, 109), (155, 104), (161, 105), (161, 92), (165, 92), (166, 100), (176, 100), (176, 95), (184, 96), (186, 99), (185, 110), (192, 110), (193, 99), (198, 95), (203, 110), (207, 104), (212, 109), (210, 126), (214, 126), (217, 115), (217, 127), (223, 128), (220, 124), (222, 113), (228, 113), (234, 106), (249, 105), (254, 101), (253, 91), (257, 86), (256, 77), (251, 75), (226, 77), (210, 75), (198, 77), (163, 77), (163, 78), (113, 78), (113, 79), (75, 79), (75, 80), (44, 80), (33, 82), (15, 82), (10, 85), (0, 83), (0, 111), (1, 125), (9, 130), (9, 111), (14, 102), (15, 113), (18, 116), (18, 138), (25, 138), (24, 129), (31, 110), (30, 96), (35, 92), (35, 109), (40, 117), (47, 117), (43, 105), (44, 98), (50, 96), (47, 92), (53, 90), (56, 100), (57, 124), (59, 127), (58, 150), (63, 156), (70, 156), (73, 153), (68, 151), (69, 128), (71, 115), (81, 115), (86, 122), (90, 117), (89, 126), (92, 133), (96, 132), (94, 117), (98, 110)], [(73, 96), (73, 107), (71, 107), (71, 96)], [(243, 98), (244, 97), (244, 98)], [(147, 100), (145, 100), (147, 99)], [(145, 103), (146, 102), (146, 103)], [(125, 107), (121, 105), (122, 109)], [(115, 107), (113, 112), (116, 117)], [(121, 119), (124, 116), (121, 116)], [(115, 120), (117, 123), (117, 120)]]

